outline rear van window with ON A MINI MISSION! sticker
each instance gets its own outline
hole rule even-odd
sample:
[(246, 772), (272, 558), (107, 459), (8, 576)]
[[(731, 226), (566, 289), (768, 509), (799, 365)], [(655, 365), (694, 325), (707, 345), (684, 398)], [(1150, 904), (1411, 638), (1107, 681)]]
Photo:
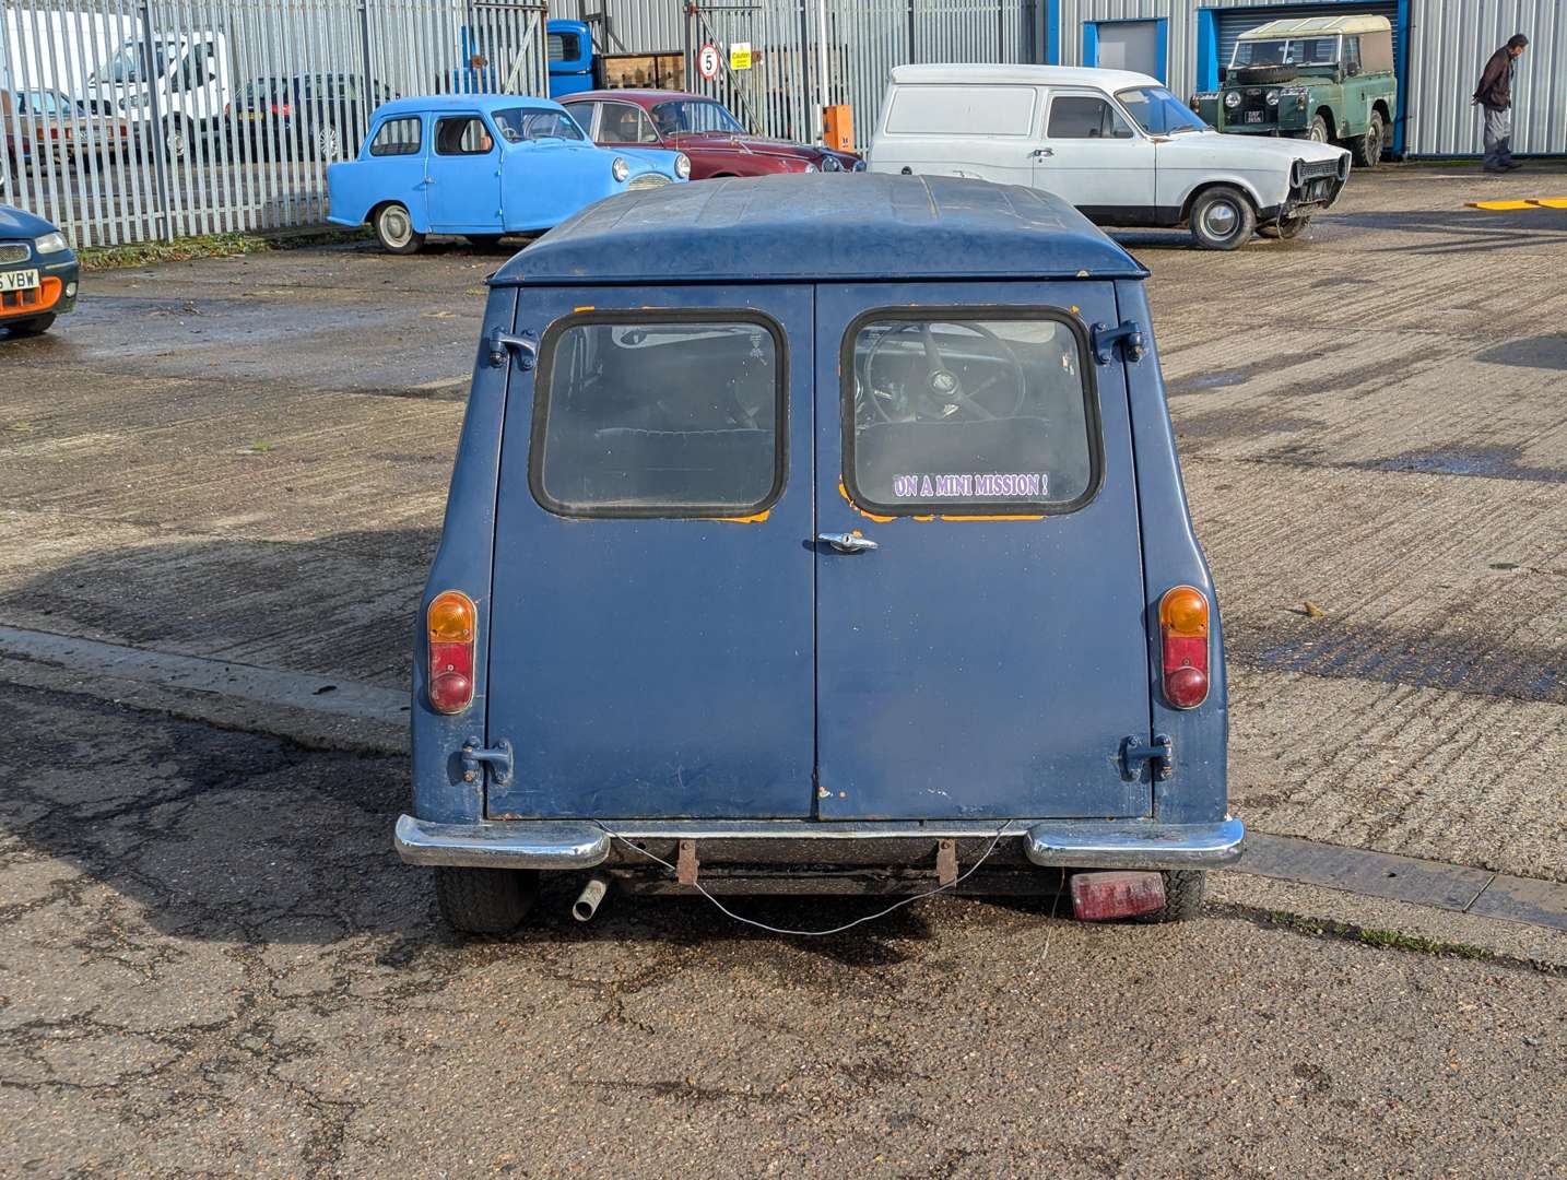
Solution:
[(845, 483), (895, 516), (1087, 503), (1098, 414), (1081, 329), (1048, 312), (876, 315), (845, 343)]

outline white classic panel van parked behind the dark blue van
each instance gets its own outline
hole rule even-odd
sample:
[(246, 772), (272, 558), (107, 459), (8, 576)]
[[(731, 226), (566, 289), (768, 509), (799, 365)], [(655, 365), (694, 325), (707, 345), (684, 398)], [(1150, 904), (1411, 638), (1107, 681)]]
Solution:
[(1341, 147), (1219, 135), (1147, 74), (1066, 66), (899, 66), (868, 158), (1044, 188), (1102, 226), (1189, 226), (1208, 249), (1293, 238), (1349, 179)]

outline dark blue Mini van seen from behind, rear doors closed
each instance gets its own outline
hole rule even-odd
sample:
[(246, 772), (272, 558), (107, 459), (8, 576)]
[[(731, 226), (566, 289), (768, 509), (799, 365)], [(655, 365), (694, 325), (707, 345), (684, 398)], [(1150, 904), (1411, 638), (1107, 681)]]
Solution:
[(1219, 614), (1145, 271), (1059, 199), (603, 201), (490, 279), (404, 860), (447, 918), (627, 890), (1053, 892), (1233, 860)]

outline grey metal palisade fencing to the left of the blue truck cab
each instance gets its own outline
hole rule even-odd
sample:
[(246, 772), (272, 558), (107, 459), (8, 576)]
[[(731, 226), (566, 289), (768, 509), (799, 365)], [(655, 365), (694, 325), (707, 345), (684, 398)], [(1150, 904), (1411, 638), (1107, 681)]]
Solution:
[(320, 224), (403, 94), (547, 94), (542, 0), (3, 0), (5, 201), (78, 246)]

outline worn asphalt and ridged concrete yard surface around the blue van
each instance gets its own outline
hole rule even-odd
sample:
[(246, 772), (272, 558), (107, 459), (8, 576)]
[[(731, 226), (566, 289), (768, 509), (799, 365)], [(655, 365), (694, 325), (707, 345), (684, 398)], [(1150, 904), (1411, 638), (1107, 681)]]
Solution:
[[(1567, 213), (1464, 208), (1559, 194), (1388, 169), (1290, 243), (1120, 235), (1255, 831), (1567, 881)], [(0, 338), (0, 625), (401, 688), (503, 257), (102, 273)], [(1222, 874), (1178, 928), (584, 928), (563, 882), (464, 940), (351, 721), (14, 655), (0, 702), (0, 1171), (1567, 1174), (1545, 928)]]

